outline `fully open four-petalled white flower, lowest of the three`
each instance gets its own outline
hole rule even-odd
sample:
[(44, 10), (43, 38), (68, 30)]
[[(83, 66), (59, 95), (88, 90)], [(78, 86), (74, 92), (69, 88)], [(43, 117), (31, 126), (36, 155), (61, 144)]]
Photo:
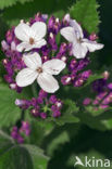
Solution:
[(53, 93), (59, 89), (59, 83), (52, 75), (59, 75), (65, 68), (65, 63), (61, 60), (52, 58), (42, 64), (38, 53), (23, 56), (27, 68), (22, 69), (16, 76), (18, 87), (32, 84), (36, 79), (40, 88), (48, 93)]

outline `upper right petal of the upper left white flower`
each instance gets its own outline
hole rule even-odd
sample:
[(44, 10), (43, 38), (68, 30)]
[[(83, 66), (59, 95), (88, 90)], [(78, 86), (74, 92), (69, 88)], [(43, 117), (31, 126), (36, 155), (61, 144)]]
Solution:
[(46, 36), (47, 31), (47, 26), (42, 22), (36, 22), (35, 24), (32, 25), (32, 34), (35, 40), (40, 40)]

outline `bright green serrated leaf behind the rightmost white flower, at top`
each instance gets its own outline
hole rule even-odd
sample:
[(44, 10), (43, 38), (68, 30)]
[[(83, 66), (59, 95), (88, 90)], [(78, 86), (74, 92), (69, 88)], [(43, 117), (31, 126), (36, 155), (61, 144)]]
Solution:
[(96, 0), (77, 0), (70, 9), (70, 14), (89, 32), (97, 32), (99, 15), (97, 12), (98, 3)]

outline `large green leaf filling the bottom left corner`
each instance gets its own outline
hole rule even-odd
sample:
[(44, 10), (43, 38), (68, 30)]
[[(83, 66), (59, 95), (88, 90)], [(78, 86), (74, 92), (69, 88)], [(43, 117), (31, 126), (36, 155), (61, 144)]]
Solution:
[(49, 158), (30, 144), (15, 144), (0, 131), (0, 167), (2, 169), (45, 169)]

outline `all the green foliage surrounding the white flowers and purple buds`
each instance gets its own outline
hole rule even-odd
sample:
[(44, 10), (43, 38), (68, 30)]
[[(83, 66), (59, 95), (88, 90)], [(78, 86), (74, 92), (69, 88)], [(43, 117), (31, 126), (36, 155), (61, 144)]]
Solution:
[[(107, 8), (111, 8), (112, 2), (107, 0), (102, 2), (97, 0), (0, 0), (0, 40), (4, 39), (7, 29), (18, 24), (22, 18), (27, 21), (39, 11), (58, 17), (70, 12), (74, 20), (82, 23), (88, 34), (98, 32), (100, 23), (98, 2), (105, 24), (100, 27), (100, 37), (105, 42), (105, 49), (94, 55), (95, 74), (79, 90), (70, 89), (70, 87), (61, 90), (59, 95), (64, 101), (64, 108), (63, 116), (60, 118), (34, 120), (27, 112), (24, 112), (24, 118), (30, 121), (32, 128), (30, 136), (26, 138), (24, 144), (17, 144), (10, 136), (12, 127), (20, 120), (24, 120), (22, 110), (15, 106), (15, 99), (30, 99), (33, 92), (30, 88), (24, 89), (22, 94), (10, 90), (3, 80), (5, 72), (0, 63), (0, 169), (72, 169), (76, 155), (82, 159), (85, 156), (112, 158), (112, 108), (96, 112), (91, 106), (86, 108), (82, 106), (84, 98), (91, 95), (88, 89), (92, 81), (102, 77), (99, 72), (109, 68), (112, 70), (110, 46), (112, 32), (109, 32), (111, 26), (107, 28), (111, 14), (107, 16), (109, 20), (103, 16), (103, 10), (108, 11)], [(0, 51), (0, 55), (1, 61), (4, 54)], [(77, 169), (80, 168), (77, 167)]]

